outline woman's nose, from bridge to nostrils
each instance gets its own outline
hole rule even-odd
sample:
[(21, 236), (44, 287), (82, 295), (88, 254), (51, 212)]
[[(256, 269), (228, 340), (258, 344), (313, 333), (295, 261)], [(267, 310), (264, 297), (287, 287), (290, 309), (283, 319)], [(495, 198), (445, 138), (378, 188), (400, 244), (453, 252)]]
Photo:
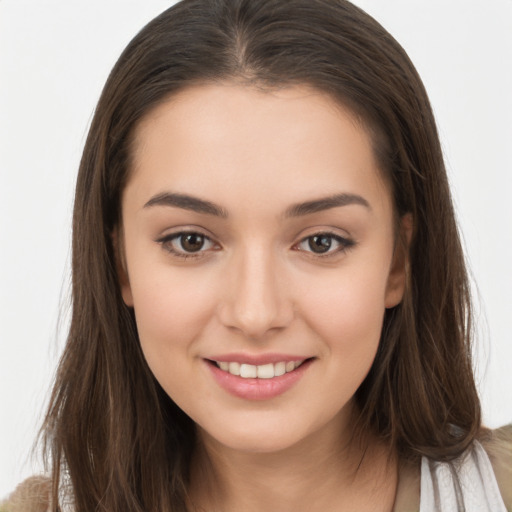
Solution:
[(244, 251), (226, 272), (220, 320), (249, 339), (262, 339), (290, 324), (294, 313), (289, 295), (272, 255), (262, 249)]

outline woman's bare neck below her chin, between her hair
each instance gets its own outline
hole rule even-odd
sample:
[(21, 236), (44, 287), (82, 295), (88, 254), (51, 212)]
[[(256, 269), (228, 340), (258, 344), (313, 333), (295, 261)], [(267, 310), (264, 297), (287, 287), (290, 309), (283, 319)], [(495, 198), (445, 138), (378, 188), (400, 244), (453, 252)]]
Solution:
[(397, 462), (375, 436), (353, 443), (327, 429), (272, 453), (233, 450), (205, 432), (199, 439), (194, 512), (392, 509)]

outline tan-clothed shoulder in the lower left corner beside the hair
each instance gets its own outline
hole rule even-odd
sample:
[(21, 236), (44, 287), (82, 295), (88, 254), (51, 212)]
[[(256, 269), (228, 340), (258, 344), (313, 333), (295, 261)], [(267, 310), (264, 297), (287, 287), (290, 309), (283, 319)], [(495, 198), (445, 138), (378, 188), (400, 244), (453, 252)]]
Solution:
[(16, 487), (6, 501), (0, 503), (0, 512), (47, 512), (50, 506), (50, 490), (49, 478), (28, 478)]

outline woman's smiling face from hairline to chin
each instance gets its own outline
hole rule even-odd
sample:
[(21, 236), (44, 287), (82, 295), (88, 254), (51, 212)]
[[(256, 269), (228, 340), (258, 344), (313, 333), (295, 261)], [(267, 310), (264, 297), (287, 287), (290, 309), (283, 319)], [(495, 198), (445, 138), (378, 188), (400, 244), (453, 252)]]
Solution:
[(404, 287), (365, 130), (306, 87), (203, 85), (133, 157), (122, 293), (163, 389), (230, 449), (339, 435)]

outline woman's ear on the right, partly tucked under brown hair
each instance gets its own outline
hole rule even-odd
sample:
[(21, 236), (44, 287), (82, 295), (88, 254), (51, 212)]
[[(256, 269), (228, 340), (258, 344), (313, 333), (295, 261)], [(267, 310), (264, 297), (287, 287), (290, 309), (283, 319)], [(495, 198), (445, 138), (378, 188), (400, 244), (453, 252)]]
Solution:
[(402, 302), (409, 273), (409, 247), (413, 231), (413, 219), (410, 213), (406, 213), (400, 219), (400, 231), (398, 233), (393, 261), (388, 275), (386, 286), (386, 309), (394, 308)]

